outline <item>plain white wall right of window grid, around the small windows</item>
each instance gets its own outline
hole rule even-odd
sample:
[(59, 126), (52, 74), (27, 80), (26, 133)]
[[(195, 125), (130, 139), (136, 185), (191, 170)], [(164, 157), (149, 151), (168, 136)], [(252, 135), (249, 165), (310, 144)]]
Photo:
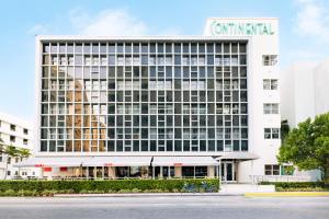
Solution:
[[(211, 26), (218, 19), (209, 19), (207, 26)], [(276, 154), (281, 146), (281, 139), (264, 139), (264, 128), (280, 128), (281, 116), (279, 114), (264, 114), (264, 103), (280, 104), (280, 85), (275, 90), (264, 90), (263, 80), (280, 80), (279, 65), (264, 66), (263, 56), (279, 56), (279, 22), (276, 19), (220, 19), (219, 23), (261, 23), (269, 25), (271, 34), (238, 34), (247, 37), (249, 43), (249, 71), (248, 71), (248, 103), (249, 103), (249, 146), (250, 152), (260, 158), (253, 161), (239, 163), (238, 178), (240, 182), (250, 182), (250, 175), (264, 175), (265, 165), (277, 164)], [(211, 35), (211, 28), (205, 30), (206, 35)], [(223, 30), (223, 28), (222, 28)], [(224, 36), (229, 35), (224, 34)], [(219, 35), (222, 35), (219, 34)], [(235, 35), (237, 37), (237, 35)], [(276, 59), (277, 60), (277, 59)], [(280, 84), (280, 83), (279, 83)], [(280, 104), (281, 105), (281, 104)]]

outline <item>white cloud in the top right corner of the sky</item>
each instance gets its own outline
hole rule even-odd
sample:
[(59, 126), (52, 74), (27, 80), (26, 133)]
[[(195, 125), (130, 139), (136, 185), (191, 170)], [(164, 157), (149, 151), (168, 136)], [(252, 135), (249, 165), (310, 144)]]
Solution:
[(296, 0), (297, 33), (329, 42), (329, 11), (320, 0)]

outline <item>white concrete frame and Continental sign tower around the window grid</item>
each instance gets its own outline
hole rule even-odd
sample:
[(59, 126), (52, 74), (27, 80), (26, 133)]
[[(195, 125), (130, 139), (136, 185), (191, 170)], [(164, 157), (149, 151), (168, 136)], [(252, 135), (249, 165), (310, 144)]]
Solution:
[[(214, 43), (214, 45), (227, 42), (229, 45), (235, 42), (245, 42), (247, 44), (247, 92), (248, 92), (248, 149), (241, 151), (238, 157), (231, 157), (230, 159), (224, 159), (225, 155), (230, 154), (232, 149), (214, 150), (214, 151), (115, 151), (115, 152), (100, 152), (100, 151), (82, 151), (81, 152), (66, 152), (56, 147), (56, 151), (49, 151), (48, 142), (45, 143), (45, 151), (42, 151), (42, 136), (41, 136), (41, 115), (42, 115), (42, 83), (43, 83), (43, 56), (44, 56), (44, 43), (52, 45), (52, 43), (67, 44), (75, 42), (137, 42), (138, 44), (149, 42), (170, 42), (184, 43), (198, 42), (201, 43)], [(109, 43), (106, 43), (109, 45)], [(49, 53), (52, 54), (52, 53)], [(57, 56), (57, 55), (56, 55)], [(251, 175), (280, 175), (281, 171), (276, 171), (277, 161), (276, 154), (281, 143), (280, 140), (280, 72), (277, 66), (279, 56), (279, 23), (277, 19), (208, 19), (204, 32), (204, 36), (172, 36), (172, 37), (89, 37), (89, 36), (38, 36), (36, 38), (36, 100), (37, 100), (37, 113), (36, 113), (36, 143), (35, 152), (36, 157), (217, 157), (223, 158), (220, 162), (227, 165), (227, 169), (232, 168), (235, 181), (250, 182)], [(60, 57), (60, 55), (58, 56)], [(230, 56), (231, 57), (231, 56)], [(229, 61), (230, 62), (230, 61)], [(224, 66), (223, 66), (224, 67)], [(231, 77), (230, 77), (231, 78)], [(224, 102), (225, 103), (225, 102)], [(266, 108), (269, 106), (270, 108)], [(266, 112), (264, 114), (264, 112)], [(217, 126), (216, 126), (217, 128)], [(268, 132), (270, 131), (270, 132)], [(56, 138), (55, 138), (56, 139)], [(47, 141), (44, 139), (43, 141)], [(116, 139), (117, 140), (117, 139)], [(218, 140), (216, 136), (215, 140)], [(220, 140), (220, 139), (219, 139)], [(192, 142), (192, 141), (191, 141)], [(218, 142), (217, 142), (218, 143)], [(209, 146), (209, 145), (207, 145)], [(216, 145), (217, 146), (217, 145)], [(75, 147), (75, 146), (73, 146)], [(107, 149), (106, 149), (107, 150)], [(256, 154), (254, 158), (243, 159), (248, 157), (247, 153)], [(257, 159), (258, 158), (258, 159)], [(249, 160), (249, 161), (245, 161)], [(251, 160), (251, 161), (250, 161)], [(241, 162), (243, 161), (243, 162)], [(177, 161), (179, 163), (179, 161)], [(230, 166), (232, 165), (232, 166)], [(265, 171), (265, 165), (271, 170)], [(182, 174), (181, 166), (174, 166), (177, 175)], [(275, 170), (274, 170), (275, 169)], [(55, 170), (55, 169), (54, 169)], [(54, 171), (53, 170), (53, 171)], [(161, 169), (162, 171), (162, 169)], [(217, 169), (216, 169), (217, 171)], [(213, 166), (207, 168), (207, 173), (214, 175), (216, 172)], [(223, 171), (226, 168), (223, 166)], [(52, 174), (58, 174), (54, 172)]]

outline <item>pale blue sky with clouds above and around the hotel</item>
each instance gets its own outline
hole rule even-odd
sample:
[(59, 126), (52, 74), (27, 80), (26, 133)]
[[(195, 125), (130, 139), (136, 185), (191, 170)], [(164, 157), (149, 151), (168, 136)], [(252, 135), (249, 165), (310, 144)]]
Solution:
[(36, 34), (201, 35), (207, 18), (280, 19), (281, 67), (329, 55), (325, 0), (11, 0), (0, 8), (0, 112), (33, 122)]

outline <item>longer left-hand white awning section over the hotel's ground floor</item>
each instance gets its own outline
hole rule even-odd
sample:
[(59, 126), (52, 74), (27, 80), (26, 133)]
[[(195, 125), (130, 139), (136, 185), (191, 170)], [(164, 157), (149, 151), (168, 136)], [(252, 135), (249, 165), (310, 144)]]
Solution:
[(42, 166), (143, 166), (150, 165), (151, 157), (56, 157), (29, 158), (19, 168)]

